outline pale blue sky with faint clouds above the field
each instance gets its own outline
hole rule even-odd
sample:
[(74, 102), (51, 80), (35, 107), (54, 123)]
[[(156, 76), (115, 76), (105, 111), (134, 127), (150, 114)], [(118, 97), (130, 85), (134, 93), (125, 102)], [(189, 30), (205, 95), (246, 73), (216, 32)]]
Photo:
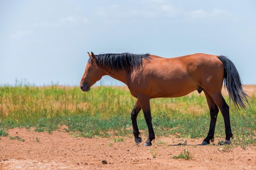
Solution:
[(0, 86), (79, 86), (91, 51), (225, 55), (256, 84), (255, 9), (255, 0), (0, 0)]

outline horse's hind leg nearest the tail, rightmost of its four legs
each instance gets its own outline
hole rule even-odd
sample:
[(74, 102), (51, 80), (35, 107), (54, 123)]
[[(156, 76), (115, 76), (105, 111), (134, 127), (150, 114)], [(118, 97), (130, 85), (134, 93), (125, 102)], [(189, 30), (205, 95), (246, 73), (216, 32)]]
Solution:
[(234, 139), (232, 131), (231, 131), (231, 126), (230, 126), (230, 118), (229, 118), (229, 106), (227, 105), (225, 99), (221, 95), (221, 92), (215, 93), (214, 95), (211, 95), (213, 98), (214, 102), (217, 104), (219, 107), (222, 116), (224, 118), (224, 123), (225, 123), (225, 132), (226, 132), (226, 138), (225, 138), (225, 143), (224, 144), (231, 144), (230, 138)]

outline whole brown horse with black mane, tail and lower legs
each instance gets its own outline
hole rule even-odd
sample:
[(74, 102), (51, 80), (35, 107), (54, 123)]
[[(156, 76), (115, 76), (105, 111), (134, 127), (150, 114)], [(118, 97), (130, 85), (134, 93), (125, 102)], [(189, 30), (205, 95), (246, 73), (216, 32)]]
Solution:
[[(225, 122), (225, 144), (233, 139), (229, 119), (229, 106), (222, 97), (223, 81), (234, 106), (246, 109), (247, 94), (243, 91), (240, 76), (234, 64), (225, 56), (193, 54), (175, 58), (132, 53), (100, 54), (88, 53), (90, 58), (81, 79), (82, 91), (90, 87), (103, 75), (124, 82), (133, 97), (137, 98), (131, 113), (135, 143), (141, 143), (137, 126), (137, 115), (142, 109), (148, 126), (148, 139), (144, 146), (151, 146), (155, 133), (151, 123), (150, 99), (157, 97), (180, 97), (197, 90), (204, 91), (209, 106), (211, 121), (207, 137), (202, 145), (214, 139), (214, 130), (219, 109)], [(229, 101), (230, 102), (230, 101)]]

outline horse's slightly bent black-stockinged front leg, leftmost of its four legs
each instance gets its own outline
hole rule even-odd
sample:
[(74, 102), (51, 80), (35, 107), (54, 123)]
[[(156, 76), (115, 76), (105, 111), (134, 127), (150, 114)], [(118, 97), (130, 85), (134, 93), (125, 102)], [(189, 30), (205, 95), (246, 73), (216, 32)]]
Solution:
[(139, 137), (140, 133), (139, 133), (138, 125), (137, 125), (137, 116), (138, 116), (138, 113), (140, 110), (141, 110), (141, 106), (139, 104), (139, 100), (137, 99), (137, 101), (134, 105), (134, 108), (132, 109), (132, 113), (131, 113), (132, 131), (133, 131), (134, 140), (135, 140), (136, 145), (141, 143), (141, 137)]

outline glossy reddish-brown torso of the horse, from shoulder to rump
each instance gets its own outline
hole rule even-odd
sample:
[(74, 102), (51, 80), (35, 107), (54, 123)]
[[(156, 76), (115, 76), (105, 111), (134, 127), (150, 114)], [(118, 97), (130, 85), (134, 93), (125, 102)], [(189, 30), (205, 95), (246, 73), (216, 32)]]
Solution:
[(209, 85), (222, 86), (224, 68), (216, 55), (197, 53), (173, 58), (150, 55), (150, 58), (150, 62), (132, 73), (131, 88), (151, 98), (179, 97)]

